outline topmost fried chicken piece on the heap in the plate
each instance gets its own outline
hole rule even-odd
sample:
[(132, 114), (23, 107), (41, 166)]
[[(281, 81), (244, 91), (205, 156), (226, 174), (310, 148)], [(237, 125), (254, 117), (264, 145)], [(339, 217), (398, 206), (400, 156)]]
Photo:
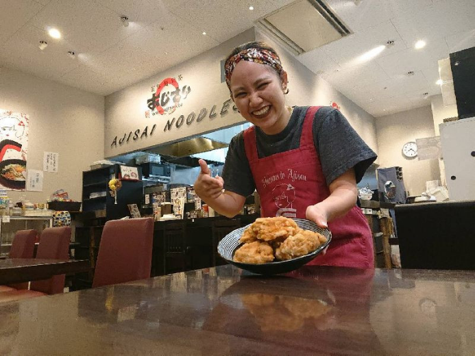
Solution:
[(257, 218), (251, 229), (258, 240), (273, 241), (285, 240), (297, 232), (297, 224), (290, 218), (278, 216), (276, 218)]

